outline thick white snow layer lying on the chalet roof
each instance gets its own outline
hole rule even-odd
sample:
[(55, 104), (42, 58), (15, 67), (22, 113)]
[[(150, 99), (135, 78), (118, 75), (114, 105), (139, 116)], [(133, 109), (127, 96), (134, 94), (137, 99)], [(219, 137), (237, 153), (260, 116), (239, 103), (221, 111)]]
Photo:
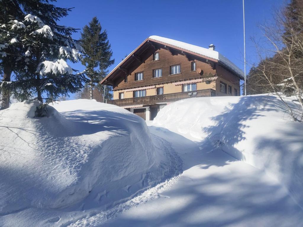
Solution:
[(214, 58), (214, 59), (220, 61), (225, 66), (234, 70), (236, 73), (238, 73), (242, 77), (244, 77), (243, 71), (241, 69), (239, 69), (234, 63), (229, 61), (228, 58), (226, 58), (225, 56), (220, 54), (218, 51), (213, 51), (213, 50), (210, 50), (208, 48), (195, 46), (195, 45), (192, 45), (192, 44), (188, 44), (188, 43), (185, 43), (185, 42), (181, 42), (181, 41), (177, 41), (177, 40), (173, 40), (173, 39), (169, 39), (169, 38), (164, 38), (164, 37), (157, 36), (157, 35), (152, 35), (152, 36), (149, 37), (149, 39), (152, 39), (152, 40), (155, 40), (155, 41), (160, 41), (160, 42), (163, 42), (163, 43), (166, 43), (166, 44), (169, 44), (169, 45), (173, 45), (173, 46), (176, 46), (178, 48), (182, 48), (182, 49), (185, 49), (185, 50), (197, 53), (197, 54), (201, 54), (201, 55), (204, 55), (204, 56), (209, 57), (209, 58)]

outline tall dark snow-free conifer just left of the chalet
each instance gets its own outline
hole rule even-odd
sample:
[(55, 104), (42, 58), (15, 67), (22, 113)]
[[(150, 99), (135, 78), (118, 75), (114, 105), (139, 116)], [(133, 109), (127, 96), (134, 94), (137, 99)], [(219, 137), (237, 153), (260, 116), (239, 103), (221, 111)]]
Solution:
[[(107, 31), (102, 31), (102, 27), (97, 17), (92, 18), (88, 25), (85, 25), (81, 33), (81, 46), (85, 50), (85, 57), (82, 64), (86, 67), (86, 75), (89, 78), (90, 99), (93, 99), (93, 88), (108, 73), (107, 68), (114, 64), (112, 58), (111, 45), (109, 44)], [(104, 86), (99, 86), (98, 90), (103, 94)], [(105, 99), (111, 99), (110, 89), (106, 89)]]

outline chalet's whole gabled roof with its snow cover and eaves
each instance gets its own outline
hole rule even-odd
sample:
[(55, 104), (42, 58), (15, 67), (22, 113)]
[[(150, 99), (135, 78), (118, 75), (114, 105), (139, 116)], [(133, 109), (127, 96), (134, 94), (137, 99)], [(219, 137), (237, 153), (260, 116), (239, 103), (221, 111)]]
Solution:
[(122, 60), (102, 81), (101, 84), (110, 84), (107, 81), (110, 80), (112, 74), (114, 74), (118, 69), (121, 69), (122, 66), (127, 65), (127, 62), (130, 58), (133, 58), (141, 47), (143, 47), (147, 43), (159, 43), (166, 44), (171, 48), (176, 48), (178, 50), (182, 50), (184, 52), (188, 52), (189, 54), (197, 55), (198, 57), (206, 58), (211, 61), (219, 62), (229, 70), (233, 71), (240, 79), (244, 80), (244, 73), (241, 69), (239, 69), (234, 63), (228, 60), (224, 55), (220, 54), (218, 51), (210, 50), (208, 48), (199, 47), (196, 45), (188, 44), (185, 42), (152, 35), (145, 39), (132, 53), (130, 53), (124, 60)]

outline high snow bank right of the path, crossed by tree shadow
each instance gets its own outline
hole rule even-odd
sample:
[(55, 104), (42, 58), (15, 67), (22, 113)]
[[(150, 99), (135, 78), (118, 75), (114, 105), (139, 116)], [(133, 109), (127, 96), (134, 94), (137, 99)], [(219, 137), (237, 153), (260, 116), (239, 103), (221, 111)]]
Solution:
[(164, 107), (154, 124), (201, 141), (201, 146), (210, 141), (236, 159), (266, 170), (303, 207), (303, 124), (292, 122), (275, 96), (180, 100)]

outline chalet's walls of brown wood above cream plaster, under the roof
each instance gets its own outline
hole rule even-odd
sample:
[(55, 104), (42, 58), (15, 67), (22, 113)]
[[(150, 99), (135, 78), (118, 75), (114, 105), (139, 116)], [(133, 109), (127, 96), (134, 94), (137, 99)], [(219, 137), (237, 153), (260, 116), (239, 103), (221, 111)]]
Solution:
[[(171, 74), (171, 67), (176, 65), (180, 65), (180, 73)], [(154, 77), (158, 69), (162, 75)], [(141, 117), (144, 113), (146, 120), (153, 120), (157, 111), (169, 102), (190, 97), (239, 95), (240, 79), (241, 76), (216, 59), (147, 39), (101, 83), (113, 86), (114, 100), (107, 103), (129, 108)], [(184, 91), (182, 83), (188, 83), (185, 81), (198, 81), (195, 90)], [(220, 83), (226, 84), (226, 93), (221, 92), (222, 88), (220, 91)], [(157, 94), (158, 88), (163, 94)], [(145, 97), (135, 97), (135, 90), (145, 90)]]

